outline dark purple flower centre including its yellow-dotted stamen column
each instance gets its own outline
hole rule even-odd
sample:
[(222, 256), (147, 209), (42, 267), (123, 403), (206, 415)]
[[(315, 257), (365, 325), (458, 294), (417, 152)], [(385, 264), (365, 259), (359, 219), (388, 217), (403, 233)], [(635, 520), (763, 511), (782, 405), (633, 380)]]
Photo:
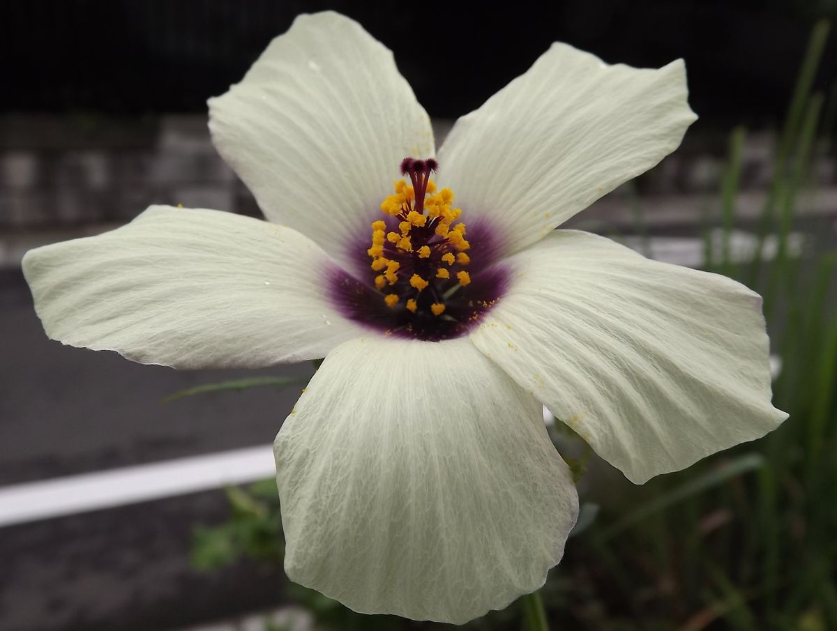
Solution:
[(480, 226), (475, 239), (465, 239), (454, 193), (437, 191), (430, 179), (438, 167), (433, 158), (403, 159), (401, 172), (412, 183), (395, 182), (381, 204), (387, 217), (372, 222), (367, 282), (345, 273), (332, 279), (332, 298), (352, 320), (439, 341), (464, 335), (500, 299), (508, 274), (499, 266), (485, 269), (496, 249), (490, 229)]

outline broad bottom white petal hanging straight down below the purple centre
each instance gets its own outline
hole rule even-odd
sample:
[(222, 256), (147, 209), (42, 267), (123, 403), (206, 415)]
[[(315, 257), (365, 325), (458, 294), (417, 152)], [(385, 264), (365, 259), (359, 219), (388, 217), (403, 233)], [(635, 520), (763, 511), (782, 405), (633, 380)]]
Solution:
[(578, 514), (540, 404), (465, 338), (340, 346), (275, 453), (285, 571), (362, 613), (504, 608), (541, 587)]

